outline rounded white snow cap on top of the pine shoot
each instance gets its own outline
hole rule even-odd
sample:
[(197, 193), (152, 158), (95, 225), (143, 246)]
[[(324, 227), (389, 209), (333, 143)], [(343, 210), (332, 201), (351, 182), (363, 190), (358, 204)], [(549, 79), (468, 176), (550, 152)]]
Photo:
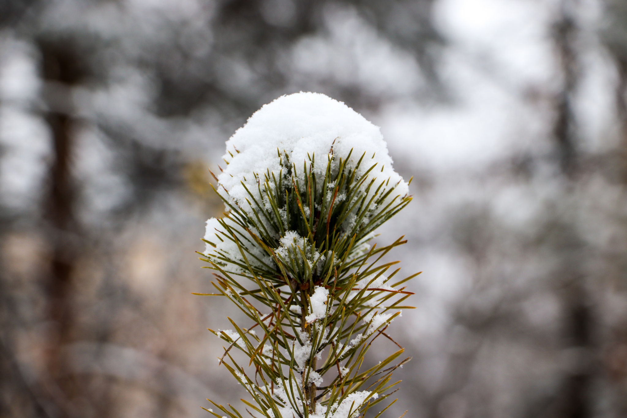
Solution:
[(342, 102), (320, 93), (300, 92), (264, 105), (226, 142), (227, 153), (223, 158), (229, 164), (218, 180), (241, 207), (248, 208), (246, 198), (250, 199), (242, 182), (258, 195), (255, 174), (270, 171), (278, 177), (282, 167), (277, 149), (285, 152), (299, 170), (303, 162), (315, 155), (322, 163), (315, 167), (320, 175), (324, 174), (331, 149), (339, 157), (349, 155), (352, 150), (349, 160), (352, 165), (366, 153), (366, 163), (359, 169), (361, 173), (376, 163), (374, 175), (389, 178), (390, 184), (399, 183), (394, 196), (408, 192), (407, 184), (392, 168), (379, 127)]

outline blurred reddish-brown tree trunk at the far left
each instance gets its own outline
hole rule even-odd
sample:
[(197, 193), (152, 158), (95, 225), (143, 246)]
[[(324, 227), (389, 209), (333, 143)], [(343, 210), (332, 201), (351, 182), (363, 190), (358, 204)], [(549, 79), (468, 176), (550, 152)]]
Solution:
[(63, 347), (73, 340), (75, 312), (73, 283), (81, 243), (76, 222), (76, 188), (72, 176), (75, 149), (71, 86), (80, 79), (78, 57), (61, 44), (41, 43), (43, 78), (46, 82), (46, 122), (50, 127), (53, 160), (48, 175), (49, 190), (44, 202), (46, 239), (51, 249), (50, 267), (45, 277), (48, 320), (51, 332), (45, 352), (48, 377), (45, 390), (55, 405), (58, 418), (75, 417), (71, 405), (79, 385), (67, 373)]

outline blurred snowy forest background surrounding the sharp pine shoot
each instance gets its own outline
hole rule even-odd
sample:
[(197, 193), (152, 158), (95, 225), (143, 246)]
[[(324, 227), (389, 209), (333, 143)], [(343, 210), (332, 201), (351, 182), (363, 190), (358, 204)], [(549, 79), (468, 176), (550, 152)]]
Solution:
[(626, 88), (623, 0), (1, 1), (0, 417), (239, 402), (207, 167), (300, 90), (414, 175), (387, 416), (627, 417)]

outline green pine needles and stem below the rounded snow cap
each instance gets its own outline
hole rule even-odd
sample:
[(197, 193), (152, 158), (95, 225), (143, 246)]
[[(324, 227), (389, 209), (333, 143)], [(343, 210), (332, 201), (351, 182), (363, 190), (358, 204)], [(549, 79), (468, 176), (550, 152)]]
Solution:
[[(218, 184), (228, 209), (216, 228), (221, 242), (204, 240), (213, 250), (201, 259), (216, 270), (212, 283), (219, 293), (196, 294), (225, 296), (251, 321), (245, 328), (229, 318), (235, 332), (210, 330), (226, 341), (220, 363), (252, 397), (242, 399), (248, 414), (365, 416), (398, 390), (392, 374), (409, 358), (398, 361), (403, 348), (386, 328), (401, 309), (411, 308), (403, 302), (412, 293), (402, 285), (418, 274), (398, 280), (400, 269), (392, 271), (398, 261), (381, 261), (406, 242), (403, 237), (388, 246), (368, 242), (411, 197), (395, 196), (397, 184), (377, 179), (377, 164), (360, 171), (369, 160), (365, 154), (358, 162), (350, 154), (325, 155), (325, 170), (314, 155), (302, 167), (285, 152), (279, 157), (282, 171), (256, 174), (256, 191), (242, 182), (247, 204), (236, 203)], [(224, 243), (237, 251), (225, 251)], [(311, 320), (312, 296), (321, 288), (324, 312)], [(366, 353), (379, 337), (398, 350), (366, 367)], [(250, 362), (238, 364), (232, 348)], [(243, 418), (231, 405), (210, 402), (221, 411), (207, 409), (216, 417)]]

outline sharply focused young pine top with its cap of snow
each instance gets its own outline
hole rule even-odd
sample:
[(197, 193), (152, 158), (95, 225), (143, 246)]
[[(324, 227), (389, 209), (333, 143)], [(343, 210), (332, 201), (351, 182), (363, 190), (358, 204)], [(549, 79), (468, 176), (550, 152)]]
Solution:
[[(253, 398), (243, 400), (253, 416), (365, 414), (396, 391), (392, 374), (409, 360), (400, 346), (373, 365), (365, 356), (378, 337), (396, 344), (385, 330), (409, 308), (404, 283), (416, 276), (380, 262), (402, 237), (369, 244), (411, 201), (379, 128), (342, 102), (295, 93), (258, 110), (224, 162), (216, 181), (227, 211), (207, 221), (203, 259), (217, 271), (213, 296), (251, 324), (211, 331), (227, 343), (219, 362)], [(241, 418), (211, 402), (216, 417)]]

